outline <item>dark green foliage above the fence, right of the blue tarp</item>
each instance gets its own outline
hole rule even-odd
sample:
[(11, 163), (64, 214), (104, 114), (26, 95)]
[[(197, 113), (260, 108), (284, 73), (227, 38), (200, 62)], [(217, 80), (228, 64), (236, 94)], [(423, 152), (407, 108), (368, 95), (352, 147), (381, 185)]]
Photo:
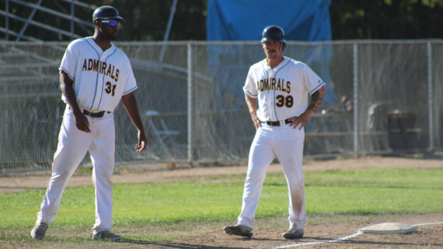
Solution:
[(333, 40), (443, 38), (441, 0), (332, 0)]

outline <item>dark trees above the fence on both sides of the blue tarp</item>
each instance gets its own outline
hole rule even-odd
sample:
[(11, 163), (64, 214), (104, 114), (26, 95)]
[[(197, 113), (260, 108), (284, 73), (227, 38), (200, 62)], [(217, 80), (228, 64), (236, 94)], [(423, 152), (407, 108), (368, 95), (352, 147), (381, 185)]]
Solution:
[[(27, 0), (37, 3), (39, 0)], [(116, 7), (128, 22), (121, 25), (119, 41), (163, 41), (173, 0), (83, 0), (95, 6)], [(169, 41), (206, 40), (208, 0), (178, 0)], [(443, 0), (331, 0), (329, 8), (333, 40), (443, 38)], [(4, 10), (6, 0), (0, 0)], [(9, 11), (27, 18), (32, 8), (9, 2)], [(70, 3), (43, 0), (41, 6), (70, 13)], [(93, 10), (76, 7), (75, 15), (91, 20)], [(69, 20), (37, 11), (34, 20), (70, 30)], [(10, 29), (20, 32), (23, 22), (10, 19)], [(4, 16), (0, 27), (5, 27)], [(76, 24), (76, 34), (90, 36), (93, 29)], [(68, 36), (29, 25), (25, 32), (44, 41), (69, 41)], [(0, 33), (0, 38), (4, 38)], [(15, 36), (10, 36), (14, 41)]]

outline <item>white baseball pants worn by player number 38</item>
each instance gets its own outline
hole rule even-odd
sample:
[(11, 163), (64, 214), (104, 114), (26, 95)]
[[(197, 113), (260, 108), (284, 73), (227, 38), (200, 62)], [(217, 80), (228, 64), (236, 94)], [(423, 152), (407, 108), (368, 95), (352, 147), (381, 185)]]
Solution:
[(271, 127), (261, 124), (252, 141), (243, 204), (238, 223), (254, 227), (255, 211), (261, 195), (266, 170), (275, 156), (282, 165), (289, 189), (289, 227), (304, 228), (306, 222), (303, 169), (304, 129), (288, 125)]

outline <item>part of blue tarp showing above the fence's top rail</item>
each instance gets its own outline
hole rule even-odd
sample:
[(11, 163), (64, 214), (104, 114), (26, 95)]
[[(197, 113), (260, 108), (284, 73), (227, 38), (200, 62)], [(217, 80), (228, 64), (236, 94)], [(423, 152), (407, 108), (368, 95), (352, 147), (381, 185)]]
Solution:
[(209, 0), (207, 41), (259, 41), (278, 25), (289, 41), (330, 41), (330, 0)]

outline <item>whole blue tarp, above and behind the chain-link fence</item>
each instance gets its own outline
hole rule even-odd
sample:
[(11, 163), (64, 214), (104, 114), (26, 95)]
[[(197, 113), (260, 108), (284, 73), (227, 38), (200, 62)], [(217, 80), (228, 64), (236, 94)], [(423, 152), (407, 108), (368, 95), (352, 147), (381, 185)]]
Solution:
[[(260, 41), (263, 29), (269, 25), (282, 27), (286, 41), (330, 41), (330, 4), (330, 0), (208, 0), (207, 41)], [(222, 46), (209, 48), (212, 76), (225, 78), (218, 79), (218, 84), (230, 92), (241, 91), (249, 66), (265, 57), (261, 46), (257, 47), (261, 51), (245, 48), (226, 51)], [(336, 104), (328, 69), (332, 48), (309, 46), (295, 50), (288, 48), (284, 55), (311, 66), (327, 84), (323, 103)], [(247, 58), (234, 60), (237, 64), (232, 66), (232, 59), (245, 57), (245, 52)], [(224, 63), (226, 58), (231, 58), (230, 65)], [(240, 94), (243, 96), (243, 91)]]

